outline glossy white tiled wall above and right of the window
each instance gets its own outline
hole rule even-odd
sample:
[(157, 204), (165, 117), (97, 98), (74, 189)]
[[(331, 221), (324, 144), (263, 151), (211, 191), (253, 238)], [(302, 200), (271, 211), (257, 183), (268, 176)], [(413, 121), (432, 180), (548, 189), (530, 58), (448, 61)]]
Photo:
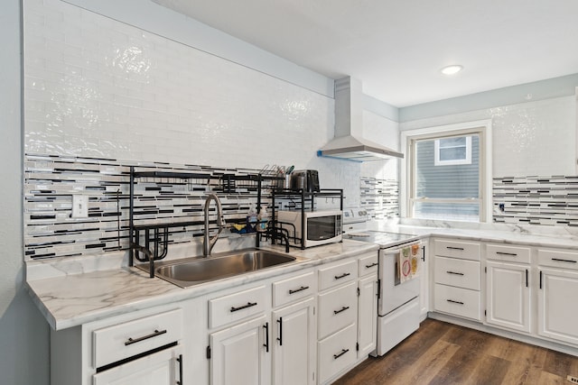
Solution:
[(492, 121), (493, 177), (575, 175), (575, 96), (424, 118), (400, 130), (483, 119)]

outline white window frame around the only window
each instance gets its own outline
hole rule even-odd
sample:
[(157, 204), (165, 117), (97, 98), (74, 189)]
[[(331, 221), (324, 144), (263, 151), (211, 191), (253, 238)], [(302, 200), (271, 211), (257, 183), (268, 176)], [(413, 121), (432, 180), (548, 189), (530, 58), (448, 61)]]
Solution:
[[(464, 136), (468, 133), (480, 135), (480, 194), (476, 200), (472, 199), (416, 199), (415, 198), (415, 141), (424, 139), (436, 139), (442, 137)], [(406, 129), (401, 132), (402, 148), (406, 149), (406, 161), (402, 163), (401, 170), (401, 207), (400, 214), (403, 218), (413, 218), (413, 204), (427, 201), (430, 203), (472, 203), (478, 201), (480, 205), (480, 223), (491, 220), (491, 120), (466, 122), (461, 124), (448, 124), (420, 129)], [(428, 220), (428, 219), (423, 219)], [(435, 220), (435, 219), (433, 219)], [(440, 219), (442, 221), (458, 221), (457, 219)], [(471, 223), (476, 223), (472, 222)]]

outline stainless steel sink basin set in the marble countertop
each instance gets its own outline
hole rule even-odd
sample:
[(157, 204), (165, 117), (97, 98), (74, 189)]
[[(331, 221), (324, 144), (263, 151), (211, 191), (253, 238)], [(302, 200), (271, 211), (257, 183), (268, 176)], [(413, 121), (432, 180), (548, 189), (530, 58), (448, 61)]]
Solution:
[(166, 262), (156, 268), (156, 275), (181, 287), (198, 285), (210, 280), (220, 280), (256, 270), (262, 270), (296, 258), (279, 252), (245, 250), (213, 254), (208, 258)]

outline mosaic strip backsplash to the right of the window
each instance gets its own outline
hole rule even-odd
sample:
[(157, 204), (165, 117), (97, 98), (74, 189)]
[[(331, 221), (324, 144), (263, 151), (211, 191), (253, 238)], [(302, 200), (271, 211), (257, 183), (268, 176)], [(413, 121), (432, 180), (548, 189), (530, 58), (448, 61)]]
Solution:
[(578, 176), (493, 179), (493, 221), (578, 226)]

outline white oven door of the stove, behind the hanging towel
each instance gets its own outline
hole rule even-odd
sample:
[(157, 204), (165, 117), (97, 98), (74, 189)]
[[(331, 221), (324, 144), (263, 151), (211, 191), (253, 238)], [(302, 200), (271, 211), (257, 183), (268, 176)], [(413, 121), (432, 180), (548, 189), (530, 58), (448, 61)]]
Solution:
[(386, 316), (397, 307), (401, 307), (419, 295), (420, 275), (424, 273), (421, 266), (418, 273), (411, 280), (401, 282), (397, 269), (397, 256), (406, 247), (418, 245), (417, 260), (421, 263), (423, 249), (421, 243), (406, 243), (392, 249), (382, 249), (379, 251), (379, 280), (381, 288), (379, 293), (378, 315)]

